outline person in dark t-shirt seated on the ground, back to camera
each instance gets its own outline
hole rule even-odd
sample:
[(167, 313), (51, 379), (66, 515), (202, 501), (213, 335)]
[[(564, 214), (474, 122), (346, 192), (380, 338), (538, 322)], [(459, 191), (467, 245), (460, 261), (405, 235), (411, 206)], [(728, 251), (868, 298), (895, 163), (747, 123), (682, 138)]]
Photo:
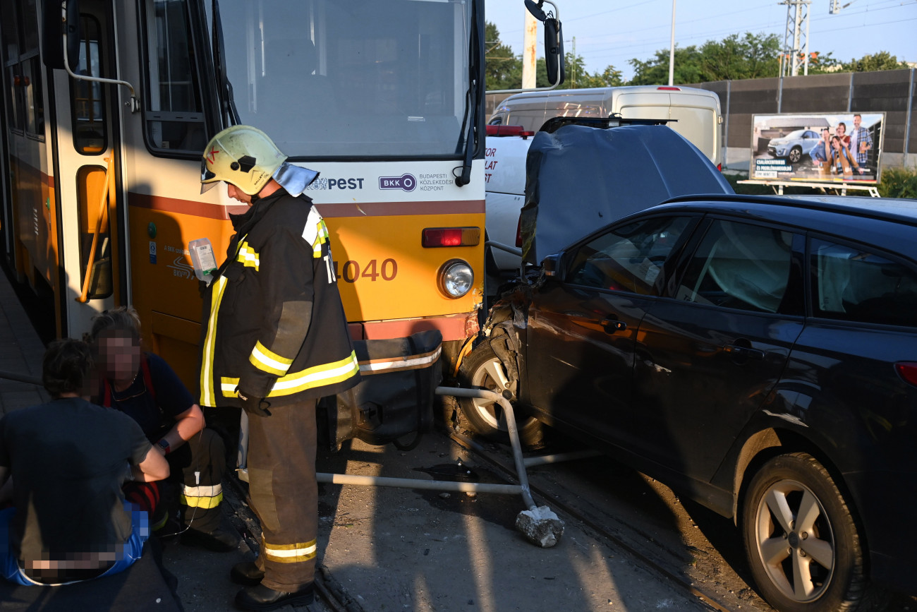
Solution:
[[(161, 480), (169, 463), (131, 417), (95, 406), (93, 367), (78, 340), (53, 342), (42, 382), (52, 401), (0, 418), (0, 576), (16, 584), (69, 584), (117, 573), (149, 537), (145, 512), (125, 502), (128, 478)], [(0, 507), (4, 503), (0, 499)]]

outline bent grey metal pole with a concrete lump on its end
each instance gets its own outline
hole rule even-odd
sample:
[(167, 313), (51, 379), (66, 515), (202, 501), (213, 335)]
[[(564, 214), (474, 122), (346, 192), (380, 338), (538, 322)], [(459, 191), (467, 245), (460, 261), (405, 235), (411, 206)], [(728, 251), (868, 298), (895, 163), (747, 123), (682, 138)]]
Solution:
[(525, 460), (522, 456), (522, 443), (519, 441), (519, 429), (516, 427), (513, 405), (508, 398), (486, 389), (468, 389), (461, 387), (436, 387), (436, 395), (454, 395), (456, 397), (477, 397), (487, 399), (503, 408), (506, 417), (506, 430), (510, 436), (510, 446), (513, 448), (516, 477), (519, 479), (520, 493), (522, 493), (526, 510), (516, 516), (516, 529), (536, 546), (550, 548), (558, 543), (564, 533), (564, 522), (558, 518), (547, 506), (536, 506), (528, 486), (528, 474), (525, 472)]

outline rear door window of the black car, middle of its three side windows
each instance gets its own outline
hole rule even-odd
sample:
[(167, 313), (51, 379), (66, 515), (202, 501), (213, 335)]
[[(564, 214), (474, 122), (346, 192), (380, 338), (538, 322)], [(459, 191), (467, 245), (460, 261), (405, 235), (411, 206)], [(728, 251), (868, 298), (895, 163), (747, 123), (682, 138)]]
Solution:
[(691, 256), (678, 299), (777, 312), (790, 280), (793, 235), (716, 219)]

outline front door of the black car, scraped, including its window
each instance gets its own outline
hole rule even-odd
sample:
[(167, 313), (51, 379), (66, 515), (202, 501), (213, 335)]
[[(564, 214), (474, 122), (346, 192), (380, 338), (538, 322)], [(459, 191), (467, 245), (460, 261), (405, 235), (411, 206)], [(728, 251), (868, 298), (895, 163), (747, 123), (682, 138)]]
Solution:
[(640, 321), (660, 293), (664, 263), (698, 219), (646, 217), (604, 230), (564, 253), (559, 277), (536, 288), (525, 388), (544, 420), (621, 441)]

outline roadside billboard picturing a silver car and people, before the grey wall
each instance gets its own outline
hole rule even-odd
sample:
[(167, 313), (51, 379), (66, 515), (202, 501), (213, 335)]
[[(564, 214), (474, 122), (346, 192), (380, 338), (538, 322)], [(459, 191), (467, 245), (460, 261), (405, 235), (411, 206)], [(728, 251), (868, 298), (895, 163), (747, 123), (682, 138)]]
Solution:
[(884, 124), (885, 113), (755, 115), (748, 177), (877, 184)]

